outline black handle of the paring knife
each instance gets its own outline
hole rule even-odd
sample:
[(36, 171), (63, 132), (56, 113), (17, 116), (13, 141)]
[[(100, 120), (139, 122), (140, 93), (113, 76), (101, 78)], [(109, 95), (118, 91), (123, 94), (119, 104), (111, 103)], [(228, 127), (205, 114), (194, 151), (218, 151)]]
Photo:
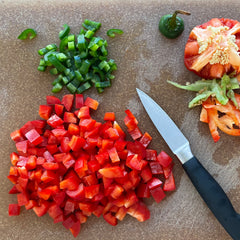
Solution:
[(240, 240), (240, 215), (234, 210), (221, 186), (196, 157), (184, 163), (183, 168), (225, 230), (234, 240)]

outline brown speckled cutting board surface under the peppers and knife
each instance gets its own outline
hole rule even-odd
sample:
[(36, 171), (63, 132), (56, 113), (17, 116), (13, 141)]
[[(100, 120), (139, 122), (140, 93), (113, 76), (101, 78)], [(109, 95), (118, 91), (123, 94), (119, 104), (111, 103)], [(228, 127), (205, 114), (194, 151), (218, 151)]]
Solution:
[[(67, 23), (77, 33), (85, 18), (100, 21), (99, 35), (106, 37), (110, 28), (121, 28), (124, 34), (109, 39), (110, 57), (118, 64), (113, 86), (103, 94), (95, 89), (85, 93), (100, 102), (95, 115), (99, 120), (105, 111), (115, 111), (117, 121), (124, 126), (124, 110), (130, 108), (137, 116), (142, 130), (148, 131), (153, 141), (151, 148), (165, 150), (174, 158), (177, 190), (167, 194), (157, 204), (147, 202), (150, 220), (140, 223), (127, 216), (117, 227), (107, 224), (102, 217), (90, 217), (82, 225), (78, 239), (112, 240), (228, 240), (231, 239), (199, 197), (183, 172), (176, 157), (156, 132), (141, 105), (135, 88), (152, 96), (175, 120), (191, 142), (192, 151), (217, 179), (234, 207), (240, 211), (240, 138), (221, 133), (214, 143), (208, 126), (199, 122), (200, 108), (189, 110), (191, 92), (179, 90), (166, 80), (184, 84), (198, 79), (186, 70), (183, 63), (184, 46), (191, 29), (213, 17), (240, 20), (238, 0), (0, 0), (0, 239), (73, 239), (61, 224), (54, 224), (49, 216), (38, 218), (33, 211), (22, 208), (18, 217), (8, 217), (8, 204), (16, 203), (9, 195), (9, 154), (15, 151), (9, 134), (26, 121), (38, 118), (38, 106), (51, 94), (53, 76), (37, 71), (37, 50), (48, 43), (59, 43), (58, 32)], [(175, 40), (160, 35), (160, 16), (176, 9), (190, 11), (183, 16), (185, 30)], [(38, 32), (32, 41), (20, 41), (25, 28)], [(59, 97), (67, 92), (64, 90)]]

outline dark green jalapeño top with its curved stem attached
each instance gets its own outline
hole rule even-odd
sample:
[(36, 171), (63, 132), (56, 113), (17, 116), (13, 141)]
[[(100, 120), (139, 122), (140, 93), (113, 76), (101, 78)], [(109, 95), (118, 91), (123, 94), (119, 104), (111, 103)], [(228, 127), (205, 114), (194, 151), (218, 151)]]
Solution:
[(159, 31), (167, 38), (174, 39), (181, 35), (184, 30), (184, 22), (177, 14), (191, 15), (191, 13), (177, 10), (174, 14), (167, 14), (160, 18)]

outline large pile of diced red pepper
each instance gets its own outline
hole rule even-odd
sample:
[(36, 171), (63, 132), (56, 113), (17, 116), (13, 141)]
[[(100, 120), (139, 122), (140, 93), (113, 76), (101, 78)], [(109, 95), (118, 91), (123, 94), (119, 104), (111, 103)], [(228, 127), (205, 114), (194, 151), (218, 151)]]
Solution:
[(107, 112), (104, 123), (91, 118), (97, 107), (81, 94), (62, 101), (47, 96), (39, 107), (44, 120), (11, 133), (17, 153), (10, 156), (9, 193), (17, 194), (18, 203), (9, 205), (10, 216), (19, 215), (21, 206), (39, 217), (48, 213), (76, 237), (92, 214), (113, 226), (127, 213), (145, 221), (150, 212), (142, 199), (152, 195), (160, 202), (175, 189), (172, 159), (147, 148), (152, 138), (141, 133), (131, 111), (124, 122), (133, 141), (127, 141), (114, 113)]

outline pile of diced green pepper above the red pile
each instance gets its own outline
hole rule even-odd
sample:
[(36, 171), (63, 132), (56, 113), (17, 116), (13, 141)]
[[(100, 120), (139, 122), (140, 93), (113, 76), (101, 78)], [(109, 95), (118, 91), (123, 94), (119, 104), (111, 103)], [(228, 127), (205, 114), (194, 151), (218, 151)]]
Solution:
[(83, 28), (77, 35), (70, 34), (64, 24), (60, 31), (59, 47), (49, 44), (39, 49), (42, 56), (39, 71), (50, 70), (57, 78), (52, 82), (52, 92), (57, 93), (64, 86), (70, 93), (82, 93), (95, 86), (99, 93), (111, 86), (112, 72), (117, 69), (113, 59), (108, 60), (107, 41), (95, 36), (101, 23), (84, 20)]

